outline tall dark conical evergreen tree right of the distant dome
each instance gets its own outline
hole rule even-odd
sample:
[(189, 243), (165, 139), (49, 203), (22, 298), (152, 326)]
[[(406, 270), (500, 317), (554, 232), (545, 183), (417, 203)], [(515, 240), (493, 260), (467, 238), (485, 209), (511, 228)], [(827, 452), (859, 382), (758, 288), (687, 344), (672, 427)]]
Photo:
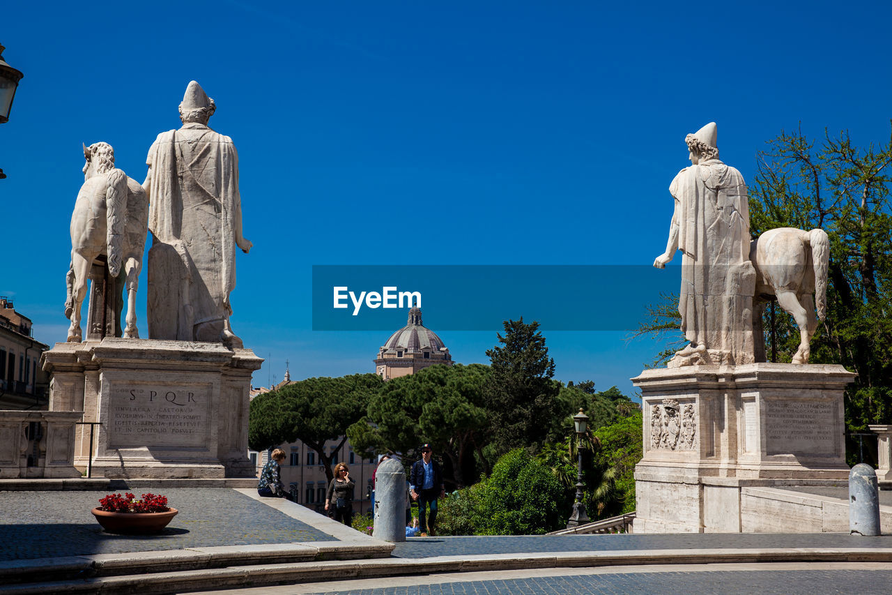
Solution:
[(552, 381), (554, 359), (549, 357), (539, 323), (505, 321), (501, 347), (488, 349), (492, 375), (485, 395), (492, 420), (497, 455), (512, 448), (536, 450), (558, 431), (563, 415), (556, 417), (560, 384)]

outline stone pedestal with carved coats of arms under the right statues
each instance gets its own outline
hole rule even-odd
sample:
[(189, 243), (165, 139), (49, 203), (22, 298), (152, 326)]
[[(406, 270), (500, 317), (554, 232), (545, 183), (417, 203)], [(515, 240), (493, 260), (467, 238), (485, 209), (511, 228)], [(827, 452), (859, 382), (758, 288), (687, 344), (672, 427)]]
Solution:
[(647, 370), (635, 532), (740, 532), (743, 487), (848, 477), (840, 365)]

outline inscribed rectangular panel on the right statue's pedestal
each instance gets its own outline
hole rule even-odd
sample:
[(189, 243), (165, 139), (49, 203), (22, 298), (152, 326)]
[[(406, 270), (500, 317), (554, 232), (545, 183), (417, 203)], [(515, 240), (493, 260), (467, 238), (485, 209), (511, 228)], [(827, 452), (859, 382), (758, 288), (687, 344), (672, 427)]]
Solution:
[(830, 401), (765, 401), (766, 453), (769, 455), (832, 455), (836, 406)]

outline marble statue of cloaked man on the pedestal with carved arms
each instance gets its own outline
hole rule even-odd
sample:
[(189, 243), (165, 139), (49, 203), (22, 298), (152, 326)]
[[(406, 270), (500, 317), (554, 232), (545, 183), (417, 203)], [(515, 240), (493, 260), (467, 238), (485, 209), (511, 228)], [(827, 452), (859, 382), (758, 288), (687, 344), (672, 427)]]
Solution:
[(748, 364), (754, 361), (756, 271), (749, 262), (747, 184), (719, 160), (715, 122), (685, 142), (692, 165), (669, 186), (675, 199), (669, 241), (654, 261), (662, 269), (681, 250), (678, 309), (690, 345), (668, 366)]

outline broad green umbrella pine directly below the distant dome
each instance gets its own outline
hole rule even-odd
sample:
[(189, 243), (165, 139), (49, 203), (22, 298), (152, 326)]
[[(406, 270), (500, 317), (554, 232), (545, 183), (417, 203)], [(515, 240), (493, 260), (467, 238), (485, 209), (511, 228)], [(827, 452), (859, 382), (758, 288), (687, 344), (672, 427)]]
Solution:
[[(417, 456), (429, 442), (443, 457), (448, 486), (463, 487), (478, 475), (475, 454), (483, 457), (490, 440), (483, 387), (486, 365), (432, 365), (388, 381), (366, 408), (366, 415), (347, 430), (353, 448)], [(409, 460), (406, 462), (409, 462)]]

